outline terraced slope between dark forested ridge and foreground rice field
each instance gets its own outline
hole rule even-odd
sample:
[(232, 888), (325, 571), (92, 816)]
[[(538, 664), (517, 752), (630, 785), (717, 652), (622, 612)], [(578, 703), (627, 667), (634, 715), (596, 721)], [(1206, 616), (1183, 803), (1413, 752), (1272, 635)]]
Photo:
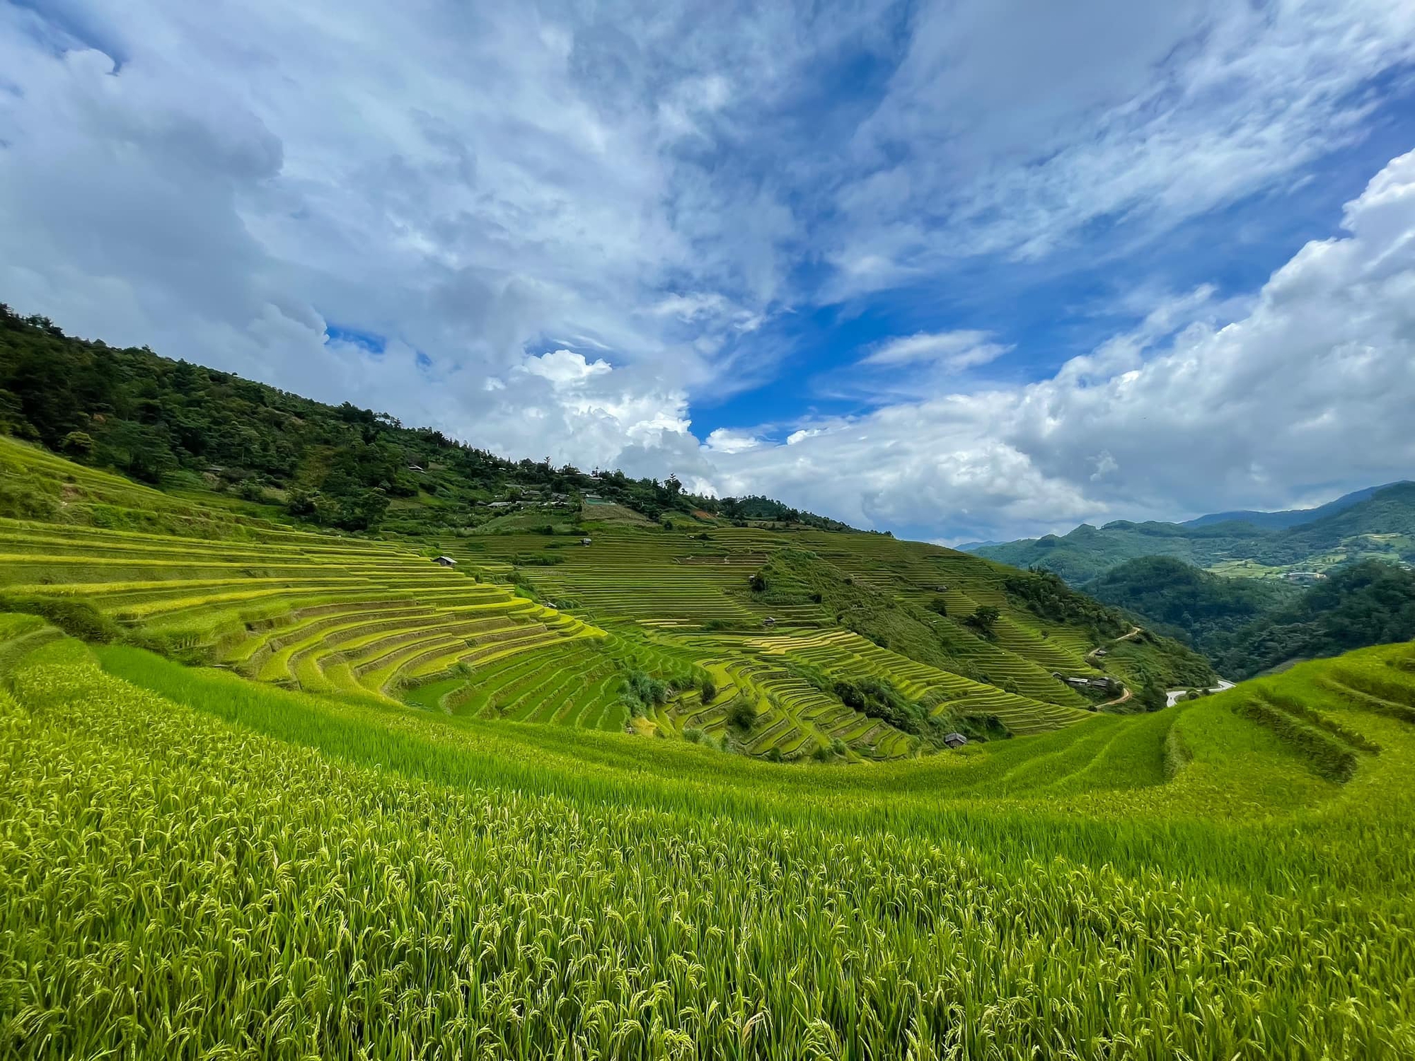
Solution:
[[(0, 467), (8, 511), (30, 515), (0, 519), (11, 607), (262, 682), (451, 714), (900, 758), (952, 730), (1090, 717), (1102, 700), (1065, 679), (1099, 676), (1087, 654), (1124, 627), (1104, 610), (1049, 620), (1009, 589), (1022, 573), (887, 535), (709, 514), (665, 526), (582, 502), (570, 533), (352, 536), (17, 441), (0, 440)], [(782, 597), (785, 557), (825, 591)], [(971, 621), (979, 610), (990, 627)]]

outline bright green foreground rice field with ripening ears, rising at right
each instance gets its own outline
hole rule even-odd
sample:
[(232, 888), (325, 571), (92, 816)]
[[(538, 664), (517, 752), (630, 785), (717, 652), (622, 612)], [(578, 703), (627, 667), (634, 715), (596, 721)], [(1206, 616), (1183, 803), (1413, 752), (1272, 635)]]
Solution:
[(3, 675), (7, 1055), (1415, 1050), (1408, 647), (855, 768), (102, 666)]

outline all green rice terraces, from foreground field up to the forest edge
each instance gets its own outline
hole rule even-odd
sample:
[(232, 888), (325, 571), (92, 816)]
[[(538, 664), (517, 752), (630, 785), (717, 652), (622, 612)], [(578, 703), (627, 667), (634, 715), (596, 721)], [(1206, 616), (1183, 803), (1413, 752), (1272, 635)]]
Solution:
[(1415, 645), (1140, 710), (1213, 672), (799, 514), (0, 468), (6, 1057), (1415, 1051)]

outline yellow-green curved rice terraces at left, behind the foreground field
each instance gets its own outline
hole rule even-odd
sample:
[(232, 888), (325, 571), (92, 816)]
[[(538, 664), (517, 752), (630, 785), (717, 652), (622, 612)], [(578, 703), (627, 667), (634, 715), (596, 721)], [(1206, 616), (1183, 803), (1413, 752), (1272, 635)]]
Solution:
[(383, 699), (454, 669), (603, 638), (406, 549), (282, 530), (262, 539), (0, 521), (0, 587), (92, 605), (260, 680)]

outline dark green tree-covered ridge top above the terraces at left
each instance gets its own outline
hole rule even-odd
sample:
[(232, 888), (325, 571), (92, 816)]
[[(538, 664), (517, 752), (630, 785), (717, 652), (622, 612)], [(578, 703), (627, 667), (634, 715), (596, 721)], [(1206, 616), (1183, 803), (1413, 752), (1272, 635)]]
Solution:
[(696, 497), (674, 477), (505, 460), (386, 413), (311, 402), (146, 347), (78, 340), (4, 304), (0, 433), (143, 482), (279, 505), (345, 530), (456, 530), (515, 509), (535, 509), (519, 514), (526, 529), (531, 521), (555, 526), (584, 497), (649, 521), (698, 512), (739, 525), (850, 529), (764, 497)]

